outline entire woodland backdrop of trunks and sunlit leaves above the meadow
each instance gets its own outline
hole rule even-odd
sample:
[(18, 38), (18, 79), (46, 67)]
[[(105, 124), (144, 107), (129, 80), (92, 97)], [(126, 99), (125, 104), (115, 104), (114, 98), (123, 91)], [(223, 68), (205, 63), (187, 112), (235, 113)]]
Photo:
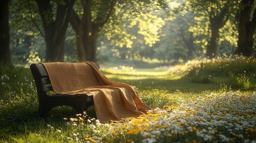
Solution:
[(1, 63), (255, 56), (254, 0), (1, 3)]

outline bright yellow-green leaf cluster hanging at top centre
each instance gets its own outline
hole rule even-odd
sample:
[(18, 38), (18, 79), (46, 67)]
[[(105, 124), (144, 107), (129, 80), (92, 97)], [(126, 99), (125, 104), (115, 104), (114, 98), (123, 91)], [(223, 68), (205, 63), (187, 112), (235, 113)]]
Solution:
[[(118, 4), (109, 24), (103, 30), (107, 39), (111, 39), (112, 45), (131, 48), (137, 36), (142, 35), (143, 43), (153, 46), (159, 41), (159, 33), (164, 25), (164, 20), (158, 16), (161, 10), (157, 5), (156, 1)], [(136, 33), (134, 29), (137, 30)]]

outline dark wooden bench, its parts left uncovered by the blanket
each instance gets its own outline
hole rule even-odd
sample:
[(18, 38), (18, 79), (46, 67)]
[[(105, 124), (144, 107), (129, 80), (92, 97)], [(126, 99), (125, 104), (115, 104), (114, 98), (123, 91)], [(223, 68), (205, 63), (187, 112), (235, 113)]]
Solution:
[(93, 105), (92, 94), (55, 94), (47, 70), (42, 64), (31, 64), (30, 70), (38, 92), (39, 114), (44, 115), (52, 108), (60, 105), (73, 107), (76, 113), (83, 113)]

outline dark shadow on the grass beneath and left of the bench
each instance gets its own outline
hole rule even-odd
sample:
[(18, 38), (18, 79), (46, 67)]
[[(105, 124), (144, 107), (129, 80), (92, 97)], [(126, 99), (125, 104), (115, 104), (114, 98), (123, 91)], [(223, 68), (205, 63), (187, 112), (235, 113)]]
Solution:
[[(88, 116), (95, 117), (93, 107), (87, 110)], [(68, 106), (55, 107), (44, 116), (38, 113), (38, 104), (25, 105), (18, 102), (1, 107), (0, 111), (0, 142), (1, 139), (10, 141), (10, 136), (29, 134), (29, 132), (40, 133), (47, 130), (48, 124), (61, 129), (66, 128), (64, 117), (74, 118), (75, 109)]]

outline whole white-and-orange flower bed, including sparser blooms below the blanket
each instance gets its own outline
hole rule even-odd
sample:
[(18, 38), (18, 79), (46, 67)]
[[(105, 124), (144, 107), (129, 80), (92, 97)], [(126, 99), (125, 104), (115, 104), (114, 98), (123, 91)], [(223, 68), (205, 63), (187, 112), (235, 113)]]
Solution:
[(122, 122), (103, 124), (77, 114), (64, 118), (73, 130), (64, 138), (76, 142), (255, 142), (255, 102), (256, 92), (211, 93)]

